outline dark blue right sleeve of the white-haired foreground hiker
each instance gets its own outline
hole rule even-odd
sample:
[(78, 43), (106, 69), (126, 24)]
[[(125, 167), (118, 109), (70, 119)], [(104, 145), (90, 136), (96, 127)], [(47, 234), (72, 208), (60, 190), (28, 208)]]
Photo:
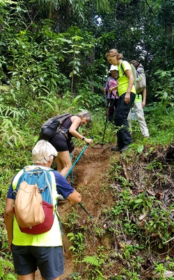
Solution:
[(56, 170), (52, 171), (54, 173), (54, 176), (56, 178), (56, 190), (59, 195), (62, 195), (65, 199), (74, 192), (74, 188), (68, 183), (67, 179), (62, 176), (59, 172)]

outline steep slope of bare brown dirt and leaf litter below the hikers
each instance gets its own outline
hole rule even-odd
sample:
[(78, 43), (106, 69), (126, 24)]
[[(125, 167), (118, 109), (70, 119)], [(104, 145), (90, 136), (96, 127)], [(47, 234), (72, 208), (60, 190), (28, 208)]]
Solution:
[[(73, 162), (79, 156), (81, 150), (82, 148), (75, 148)], [(164, 267), (168, 263), (174, 266), (172, 261), (174, 257), (174, 239), (171, 238), (174, 234), (171, 226), (174, 224), (174, 211), (171, 211), (170, 220), (168, 220), (168, 216), (165, 216), (165, 213), (174, 204), (173, 151), (173, 145), (166, 147), (166, 149), (160, 146), (154, 148), (147, 145), (141, 154), (134, 154), (134, 152), (130, 151), (125, 155), (120, 155), (119, 152), (113, 153), (109, 145), (104, 145), (103, 147), (95, 145), (86, 149), (81, 158), (79, 158), (77, 165), (74, 166), (73, 186), (81, 193), (81, 203), (93, 218), (90, 219), (89, 215), (79, 205), (72, 205), (68, 201), (63, 201), (58, 205), (58, 212), (61, 215), (65, 233), (63, 237), (65, 273), (61, 276), (61, 280), (86, 279), (84, 270), (88, 265), (81, 263), (81, 260), (84, 256), (98, 256), (98, 249), (101, 249), (101, 259), (107, 254), (109, 256), (109, 259), (105, 260), (104, 267), (101, 266), (100, 268), (100, 272), (102, 272), (101, 279), (122, 279), (117, 278), (117, 275), (122, 274), (124, 269), (129, 273), (129, 270), (132, 270), (132, 265), (135, 265), (138, 259), (142, 261), (142, 263), (137, 261), (137, 265), (139, 265), (137, 271), (139, 271), (140, 275), (136, 275), (135, 272), (134, 279), (153, 279), (155, 274), (154, 265), (157, 262), (162, 263)], [(68, 176), (68, 181), (72, 181), (70, 175)], [(160, 218), (158, 220), (157, 217), (157, 220), (155, 220), (155, 212), (154, 216), (150, 215), (150, 211), (154, 210), (150, 204), (146, 205), (146, 211), (143, 215), (140, 215), (143, 213), (142, 208), (138, 211), (138, 215), (136, 215), (132, 207), (129, 210), (126, 209), (126, 196), (129, 195), (131, 199), (134, 199), (141, 193), (145, 193), (145, 201), (148, 201), (149, 198), (151, 199), (150, 201), (154, 199), (160, 201), (161, 204), (155, 204), (155, 208), (159, 206), (159, 211), (161, 209), (161, 213), (165, 214), (164, 219), (160, 217), (161, 220)], [(125, 197), (123, 197), (124, 195)], [(118, 216), (120, 227), (117, 220), (116, 228), (113, 229), (114, 220), (112, 220), (112, 217), (104, 215), (104, 211), (107, 211), (112, 206), (118, 211), (117, 205), (120, 207), (123, 205), (122, 212), (125, 211), (125, 213), (123, 216)], [(148, 206), (151, 207), (150, 210)], [(130, 222), (129, 225), (133, 230), (132, 234), (129, 231), (126, 235), (122, 230), (125, 218)], [(150, 230), (145, 232), (145, 224), (150, 224), (151, 220), (155, 221), (157, 228), (152, 229), (150, 226)], [(68, 227), (68, 224), (70, 227)], [(141, 240), (136, 236), (137, 231), (134, 231), (134, 227), (136, 227), (136, 230), (138, 229), (140, 237), (142, 236), (144, 240), (147, 238), (147, 241), (150, 240), (150, 248), (129, 252), (133, 247), (141, 247)], [(79, 261), (76, 262), (74, 262), (77, 257), (77, 255), (74, 256), (76, 252), (72, 252), (69, 249), (73, 243), (69, 242), (70, 237), (67, 237), (67, 234), (72, 231), (77, 235), (82, 233), (85, 236), (84, 244), (83, 242), (81, 243), (82, 247), (85, 245), (85, 255), (81, 256)], [(171, 238), (171, 241), (164, 243), (162, 247), (158, 247), (161, 238), (163, 238), (160, 234), (164, 231), (168, 231), (168, 236), (166, 236), (167, 238), (169, 237), (168, 240)], [(168, 261), (167, 256), (170, 257), (170, 261)], [(91, 266), (93, 267), (93, 265), (90, 265), (89, 269), (91, 269)], [(81, 278), (69, 277), (74, 270), (80, 273)], [(168, 272), (168, 270), (166, 273), (169, 275), (174, 274), (173, 271)], [(133, 274), (132, 272), (130, 278), (128, 277), (127, 279), (132, 279)], [(39, 272), (37, 272), (36, 279), (41, 279)], [(91, 277), (91, 279), (93, 278)]]

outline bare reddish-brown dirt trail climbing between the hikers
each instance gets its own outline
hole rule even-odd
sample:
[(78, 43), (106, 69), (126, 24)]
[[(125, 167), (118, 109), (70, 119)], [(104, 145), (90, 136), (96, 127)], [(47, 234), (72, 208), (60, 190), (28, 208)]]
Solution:
[[(82, 149), (80, 148), (74, 149), (72, 162), (76, 160), (81, 151)], [(104, 181), (104, 176), (106, 176), (106, 172), (109, 169), (109, 159), (112, 155), (113, 152), (109, 145), (103, 147), (101, 145), (88, 147), (73, 168), (73, 187), (81, 193), (81, 203), (93, 217), (100, 215), (100, 204), (97, 204), (97, 200), (100, 201), (100, 203), (110, 200), (106, 199), (106, 197), (100, 197), (100, 188)], [(68, 176), (68, 181), (71, 182), (70, 175)], [(72, 206), (68, 201), (58, 206), (61, 219), (64, 219), (66, 215), (72, 211), (72, 207), (76, 208), (80, 216), (79, 223), (83, 224), (88, 215), (80, 206)], [(73, 272), (74, 263), (72, 252), (68, 250), (70, 247), (68, 238), (65, 237), (64, 242), (66, 248), (66, 252), (64, 252), (65, 270), (64, 274), (61, 275), (61, 280), (68, 280), (68, 275)], [(35, 280), (42, 280), (39, 271), (35, 274)]]

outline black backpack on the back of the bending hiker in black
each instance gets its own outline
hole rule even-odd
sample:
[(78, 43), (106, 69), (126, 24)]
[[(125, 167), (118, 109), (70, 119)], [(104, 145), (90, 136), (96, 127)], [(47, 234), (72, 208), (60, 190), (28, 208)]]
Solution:
[[(54, 137), (54, 135), (56, 135), (56, 131), (60, 129), (61, 124), (63, 124), (63, 122), (71, 116), (72, 115), (70, 113), (65, 113), (56, 117), (51, 117), (42, 125), (39, 139), (49, 140), (50, 138)], [(66, 129), (66, 131), (68, 131), (68, 129)]]

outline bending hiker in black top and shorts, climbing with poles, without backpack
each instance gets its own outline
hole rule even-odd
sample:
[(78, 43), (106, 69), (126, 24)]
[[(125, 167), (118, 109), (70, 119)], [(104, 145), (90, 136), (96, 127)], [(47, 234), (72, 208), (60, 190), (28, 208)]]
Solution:
[[(63, 176), (65, 176), (72, 167), (70, 153), (74, 147), (71, 138), (74, 136), (89, 145), (93, 142), (91, 138), (86, 138), (77, 131), (79, 126), (84, 126), (84, 124), (91, 122), (91, 120), (91, 114), (86, 110), (81, 111), (77, 115), (72, 115), (61, 124), (59, 133), (56, 133), (54, 137), (49, 139), (49, 142), (56, 148), (56, 151), (58, 151), (58, 156), (56, 156), (54, 161), (57, 165), (57, 171)], [(68, 132), (64, 133), (65, 131), (63, 131), (63, 129), (68, 130)], [(72, 147), (70, 147), (70, 145), (72, 145)]]

